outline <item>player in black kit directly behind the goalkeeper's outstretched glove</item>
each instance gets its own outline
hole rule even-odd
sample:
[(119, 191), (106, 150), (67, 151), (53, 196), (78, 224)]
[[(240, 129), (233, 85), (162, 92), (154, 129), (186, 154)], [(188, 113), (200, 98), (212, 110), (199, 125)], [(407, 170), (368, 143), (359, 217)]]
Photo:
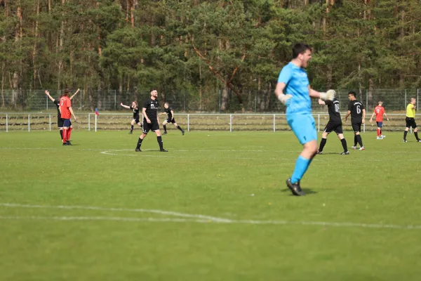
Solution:
[(335, 131), (335, 133), (338, 135), (338, 138), (340, 139), (340, 142), (342, 143), (342, 148), (344, 148), (344, 151), (341, 153), (341, 155), (349, 155), (347, 141), (345, 141), (344, 132), (342, 131), (342, 120), (340, 119), (339, 113), (339, 101), (336, 98), (333, 100), (325, 101), (319, 99), (319, 105), (328, 105), (329, 122), (326, 124), (326, 127), (321, 134), (321, 142), (317, 154), (323, 154), (323, 148), (326, 145), (328, 134), (332, 131)]

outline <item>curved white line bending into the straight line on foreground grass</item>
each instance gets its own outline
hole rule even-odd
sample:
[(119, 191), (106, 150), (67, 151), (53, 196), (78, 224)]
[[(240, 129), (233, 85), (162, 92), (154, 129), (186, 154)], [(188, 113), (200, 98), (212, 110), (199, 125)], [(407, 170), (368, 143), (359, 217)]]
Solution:
[(39, 208), (39, 209), (83, 209), (83, 210), (97, 210), (97, 211), (128, 211), (136, 213), (154, 213), (169, 216), (181, 216), (185, 218), (203, 218), (212, 221), (229, 221), (228, 218), (217, 218), (215, 216), (203, 216), (201, 214), (184, 214), (175, 211), (162, 211), (155, 209), (124, 209), (124, 208), (104, 208), (95, 206), (51, 206), (51, 205), (27, 205), (27, 204), (13, 204), (13, 203), (0, 203), (2, 207), (15, 207), (15, 208)]

